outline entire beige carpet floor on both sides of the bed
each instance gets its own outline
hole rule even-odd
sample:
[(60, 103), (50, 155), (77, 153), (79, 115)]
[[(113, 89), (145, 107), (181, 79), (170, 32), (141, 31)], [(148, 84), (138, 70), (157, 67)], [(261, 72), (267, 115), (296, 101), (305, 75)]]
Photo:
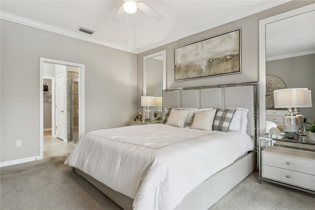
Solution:
[[(57, 142), (64, 145), (63, 142)], [(120, 209), (88, 181), (63, 164), (68, 153), (58, 154), (56, 151), (50, 151), (46, 155), (48, 157), (43, 160), (0, 169), (1, 210)], [(256, 172), (249, 175), (210, 210), (315, 209), (314, 194), (266, 181), (259, 184), (257, 176)]]

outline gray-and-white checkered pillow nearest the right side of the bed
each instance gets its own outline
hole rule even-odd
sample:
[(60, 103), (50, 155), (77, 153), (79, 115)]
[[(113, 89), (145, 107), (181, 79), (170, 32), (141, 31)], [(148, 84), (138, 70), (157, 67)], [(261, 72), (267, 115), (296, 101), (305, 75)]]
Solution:
[(218, 108), (212, 130), (227, 132), (234, 113), (235, 109), (233, 108)]

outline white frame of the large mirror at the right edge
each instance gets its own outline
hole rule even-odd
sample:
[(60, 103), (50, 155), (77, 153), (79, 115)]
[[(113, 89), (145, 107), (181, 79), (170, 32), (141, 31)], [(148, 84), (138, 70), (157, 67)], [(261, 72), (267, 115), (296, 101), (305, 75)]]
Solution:
[(266, 133), (266, 25), (313, 11), (314, 7), (313, 3), (259, 21), (259, 136)]

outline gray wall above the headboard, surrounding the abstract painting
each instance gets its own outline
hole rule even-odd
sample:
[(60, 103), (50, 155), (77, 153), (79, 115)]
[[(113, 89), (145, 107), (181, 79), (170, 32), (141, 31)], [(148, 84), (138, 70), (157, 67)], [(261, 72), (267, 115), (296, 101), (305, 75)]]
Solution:
[[(259, 20), (281, 14), (292, 9), (296, 9), (314, 1), (290, 1), (283, 5), (265, 10), (263, 12), (251, 15), (246, 18), (242, 18), (231, 23), (224, 24), (214, 29), (207, 30), (205, 32), (191, 35), (189, 37), (180, 39), (178, 41), (171, 42), (161, 47), (143, 52), (138, 54), (138, 90), (142, 90), (142, 60), (144, 56), (166, 50), (167, 57), (167, 84), (166, 88), (178, 88), (178, 87), (195, 87), (205, 85), (216, 85), (216, 84), (228, 84), (237, 82), (249, 82), (258, 81), (258, 28)], [(215, 76), (200, 79), (191, 79), (186, 81), (174, 81), (174, 48), (193, 43), (195, 41), (203, 40), (215, 35), (220, 35), (235, 29), (241, 28), (241, 62), (242, 62), (242, 73), (230, 74), (223, 76)], [(141, 91), (138, 91), (138, 98)], [(138, 101), (138, 106), (140, 101)], [(141, 110), (141, 109), (140, 109)]]

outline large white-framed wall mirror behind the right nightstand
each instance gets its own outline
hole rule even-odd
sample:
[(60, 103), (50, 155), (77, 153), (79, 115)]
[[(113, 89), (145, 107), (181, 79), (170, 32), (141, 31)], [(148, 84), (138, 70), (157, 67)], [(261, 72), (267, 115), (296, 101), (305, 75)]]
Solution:
[[(313, 107), (299, 108), (315, 121), (315, 4), (259, 21), (259, 133), (266, 133), (266, 75), (280, 78), (286, 88), (312, 91)], [(281, 88), (282, 89), (282, 88)]]

